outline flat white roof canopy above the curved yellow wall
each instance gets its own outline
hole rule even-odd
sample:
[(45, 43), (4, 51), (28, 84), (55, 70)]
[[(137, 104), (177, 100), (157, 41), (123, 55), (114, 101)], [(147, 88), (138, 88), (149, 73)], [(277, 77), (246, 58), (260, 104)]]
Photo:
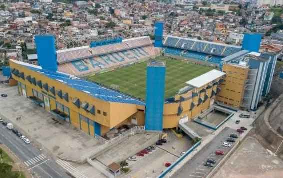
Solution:
[(212, 82), (216, 78), (219, 78), (221, 76), (225, 75), (224, 72), (219, 70), (211, 70), (205, 74), (202, 74), (201, 76), (198, 76), (194, 79), (191, 79), (190, 81), (187, 81), (186, 83), (190, 86), (194, 86), (196, 88), (202, 87), (206, 85), (209, 82)]

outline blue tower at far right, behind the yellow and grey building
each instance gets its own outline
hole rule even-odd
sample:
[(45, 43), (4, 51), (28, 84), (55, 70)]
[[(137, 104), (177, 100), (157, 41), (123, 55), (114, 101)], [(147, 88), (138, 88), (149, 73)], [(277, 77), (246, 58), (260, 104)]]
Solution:
[(242, 42), (242, 49), (249, 50), (251, 52), (259, 52), (261, 39), (261, 34), (245, 33)]

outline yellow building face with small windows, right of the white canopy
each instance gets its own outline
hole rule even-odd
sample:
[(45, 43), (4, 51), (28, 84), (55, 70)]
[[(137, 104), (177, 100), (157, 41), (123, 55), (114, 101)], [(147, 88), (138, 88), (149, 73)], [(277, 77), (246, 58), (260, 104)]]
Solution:
[(239, 109), (249, 68), (224, 64), (222, 71), (226, 74), (224, 76), (224, 82), (220, 83), (221, 90), (216, 96), (215, 101)]

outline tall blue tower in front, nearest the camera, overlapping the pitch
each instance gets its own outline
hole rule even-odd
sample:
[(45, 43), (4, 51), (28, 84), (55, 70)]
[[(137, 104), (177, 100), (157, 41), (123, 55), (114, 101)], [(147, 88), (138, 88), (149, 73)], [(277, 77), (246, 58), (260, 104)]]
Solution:
[(146, 70), (145, 130), (163, 129), (165, 61), (150, 60)]

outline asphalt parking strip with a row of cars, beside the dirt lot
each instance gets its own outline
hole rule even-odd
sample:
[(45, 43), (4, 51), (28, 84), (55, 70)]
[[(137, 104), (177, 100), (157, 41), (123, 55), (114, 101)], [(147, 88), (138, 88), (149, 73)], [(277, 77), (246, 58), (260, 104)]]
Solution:
[[(172, 177), (202, 177), (204, 174), (195, 174), (194, 172), (197, 171), (206, 173), (208, 171), (211, 171), (212, 168), (204, 167), (203, 162), (208, 157), (211, 157), (212, 155), (215, 156), (215, 150), (221, 149), (219, 147), (221, 146), (222, 142), (225, 141), (226, 138), (229, 137), (229, 135), (232, 133), (236, 134), (236, 130), (225, 127), (212, 141), (210, 141), (205, 147), (203, 147), (198, 153), (196, 153), (192, 157), (192, 159), (190, 159), (182, 168), (175, 172)], [(225, 153), (226, 151), (223, 152)], [(219, 162), (218, 159), (215, 160)]]

